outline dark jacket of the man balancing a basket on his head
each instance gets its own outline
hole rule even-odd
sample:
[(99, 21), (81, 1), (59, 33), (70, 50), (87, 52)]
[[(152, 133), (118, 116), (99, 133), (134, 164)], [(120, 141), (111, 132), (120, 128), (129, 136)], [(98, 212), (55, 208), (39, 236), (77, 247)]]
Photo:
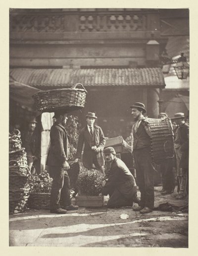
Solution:
[(69, 156), (69, 135), (61, 125), (54, 123), (50, 129), (50, 148), (47, 165), (62, 166)]

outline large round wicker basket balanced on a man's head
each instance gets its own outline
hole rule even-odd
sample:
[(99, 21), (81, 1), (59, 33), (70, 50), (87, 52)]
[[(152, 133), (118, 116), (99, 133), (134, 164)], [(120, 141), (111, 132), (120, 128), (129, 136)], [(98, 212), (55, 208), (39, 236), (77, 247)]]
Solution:
[[(82, 88), (76, 88), (80, 85)], [(71, 88), (39, 91), (32, 97), (36, 107), (42, 112), (54, 112), (54, 110), (75, 111), (84, 108), (87, 91), (81, 83)]]

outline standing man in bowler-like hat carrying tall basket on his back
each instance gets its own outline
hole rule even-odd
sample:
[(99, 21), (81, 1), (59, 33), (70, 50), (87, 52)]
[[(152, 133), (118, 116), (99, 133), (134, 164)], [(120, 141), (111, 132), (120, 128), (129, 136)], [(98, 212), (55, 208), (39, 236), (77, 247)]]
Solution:
[(132, 153), (135, 161), (138, 187), (141, 192), (139, 207), (135, 211), (141, 213), (151, 212), (154, 208), (153, 168), (151, 163), (151, 131), (145, 105), (136, 102), (131, 106), (132, 118), (135, 124), (132, 128)]

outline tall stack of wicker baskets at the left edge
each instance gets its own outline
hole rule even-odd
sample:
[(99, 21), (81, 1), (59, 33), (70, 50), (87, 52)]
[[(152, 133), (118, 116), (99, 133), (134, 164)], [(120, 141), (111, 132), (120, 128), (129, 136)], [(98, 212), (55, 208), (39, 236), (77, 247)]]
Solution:
[(28, 166), (19, 130), (9, 134), (9, 213), (22, 212), (29, 197)]

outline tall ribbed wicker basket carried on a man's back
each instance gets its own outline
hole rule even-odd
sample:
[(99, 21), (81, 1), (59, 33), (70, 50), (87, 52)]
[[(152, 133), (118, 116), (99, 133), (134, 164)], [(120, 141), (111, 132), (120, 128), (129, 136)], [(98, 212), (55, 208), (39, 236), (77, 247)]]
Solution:
[(171, 120), (148, 118), (151, 129), (151, 157), (155, 164), (167, 162), (174, 156), (174, 139)]

